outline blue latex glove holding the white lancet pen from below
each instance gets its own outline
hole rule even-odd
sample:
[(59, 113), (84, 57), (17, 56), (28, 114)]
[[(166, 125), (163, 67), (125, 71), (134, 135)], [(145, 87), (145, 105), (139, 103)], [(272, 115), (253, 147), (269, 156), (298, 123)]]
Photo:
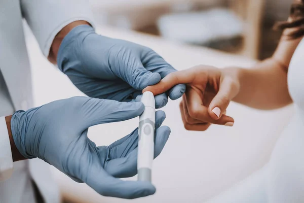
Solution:
[[(141, 102), (72, 97), (17, 111), (11, 128), (16, 147), (24, 157), (39, 157), (101, 195), (137, 198), (154, 194), (155, 187), (149, 182), (117, 178), (137, 173), (138, 129), (110, 146), (99, 147), (87, 133), (90, 126), (131, 119), (143, 110)], [(163, 111), (156, 112), (155, 157), (169, 138), (170, 128), (160, 127), (165, 117)]]

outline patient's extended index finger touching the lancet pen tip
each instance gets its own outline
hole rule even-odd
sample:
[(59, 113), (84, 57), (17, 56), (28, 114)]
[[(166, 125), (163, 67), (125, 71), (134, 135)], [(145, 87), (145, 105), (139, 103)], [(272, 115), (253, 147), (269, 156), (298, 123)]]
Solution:
[(191, 70), (177, 71), (168, 74), (156, 85), (148, 86), (142, 92), (150, 91), (154, 95), (164, 93), (178, 84), (191, 83), (194, 80), (195, 74)]

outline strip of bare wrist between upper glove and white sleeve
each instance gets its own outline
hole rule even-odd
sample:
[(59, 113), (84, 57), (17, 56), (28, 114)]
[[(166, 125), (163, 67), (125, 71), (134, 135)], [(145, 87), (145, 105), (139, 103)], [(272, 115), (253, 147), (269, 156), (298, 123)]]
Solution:
[(50, 49), (50, 54), (49, 54), (49, 61), (53, 64), (57, 63), (57, 53), (60, 47), (60, 44), (63, 40), (63, 38), (67, 35), (67, 33), (73, 29), (74, 27), (78, 25), (90, 25), (87, 21), (84, 20), (79, 20), (79, 21), (74, 21), (63, 27), (60, 32), (56, 35)]

